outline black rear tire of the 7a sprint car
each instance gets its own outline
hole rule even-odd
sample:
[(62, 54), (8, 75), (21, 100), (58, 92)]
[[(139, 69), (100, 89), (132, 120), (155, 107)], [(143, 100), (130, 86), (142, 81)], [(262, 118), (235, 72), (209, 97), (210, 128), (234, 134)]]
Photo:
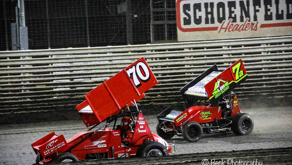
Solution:
[(231, 130), (235, 135), (249, 135), (253, 131), (253, 119), (247, 113), (237, 113), (232, 118)]

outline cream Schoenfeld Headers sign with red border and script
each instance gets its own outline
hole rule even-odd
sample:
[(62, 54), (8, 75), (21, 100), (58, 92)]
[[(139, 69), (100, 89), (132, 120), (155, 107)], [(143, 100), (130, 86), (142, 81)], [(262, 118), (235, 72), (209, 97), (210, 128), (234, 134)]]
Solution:
[(292, 0), (177, 0), (178, 41), (292, 35)]

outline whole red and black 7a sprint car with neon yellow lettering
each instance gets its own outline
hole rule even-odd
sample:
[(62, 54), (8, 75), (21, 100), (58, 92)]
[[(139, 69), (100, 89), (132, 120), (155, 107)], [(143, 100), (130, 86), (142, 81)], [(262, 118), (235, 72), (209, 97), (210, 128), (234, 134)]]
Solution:
[(203, 133), (250, 134), (253, 119), (241, 112), (237, 96), (232, 92), (246, 78), (241, 59), (223, 72), (213, 65), (180, 89), (187, 110), (181, 112), (168, 107), (157, 115), (157, 134), (164, 139), (183, 136), (189, 142), (197, 142)]

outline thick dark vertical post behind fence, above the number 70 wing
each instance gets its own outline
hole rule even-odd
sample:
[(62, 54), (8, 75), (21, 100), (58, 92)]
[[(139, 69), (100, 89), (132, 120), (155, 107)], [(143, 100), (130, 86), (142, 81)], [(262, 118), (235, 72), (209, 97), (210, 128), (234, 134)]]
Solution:
[(131, 0), (126, 0), (126, 6), (127, 6), (127, 12), (126, 12), (127, 43), (128, 45), (133, 45), (133, 23), (132, 23)]

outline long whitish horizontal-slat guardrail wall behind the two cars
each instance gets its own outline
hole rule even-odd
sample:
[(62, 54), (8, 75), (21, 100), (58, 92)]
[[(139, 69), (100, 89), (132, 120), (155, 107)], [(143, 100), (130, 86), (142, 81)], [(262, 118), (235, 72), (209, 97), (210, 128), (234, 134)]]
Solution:
[(182, 102), (179, 89), (213, 64), (241, 58), (248, 79), (236, 93), (291, 97), (292, 36), (0, 52), (0, 113), (73, 109), (84, 94), (144, 56), (159, 84), (140, 105)]

